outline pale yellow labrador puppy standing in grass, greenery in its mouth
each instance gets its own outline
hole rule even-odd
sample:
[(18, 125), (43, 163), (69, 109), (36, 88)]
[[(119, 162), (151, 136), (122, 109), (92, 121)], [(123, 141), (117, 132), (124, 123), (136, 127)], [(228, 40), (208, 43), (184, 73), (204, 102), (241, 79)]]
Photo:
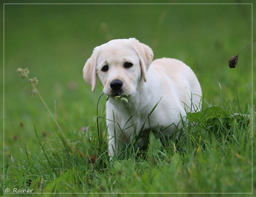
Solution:
[(141, 128), (165, 128), (162, 132), (171, 137), (186, 112), (200, 109), (202, 91), (195, 73), (176, 59), (152, 60), (149, 46), (135, 38), (116, 39), (95, 47), (84, 65), (83, 78), (92, 92), (98, 77), (109, 96), (106, 124), (111, 157)]

